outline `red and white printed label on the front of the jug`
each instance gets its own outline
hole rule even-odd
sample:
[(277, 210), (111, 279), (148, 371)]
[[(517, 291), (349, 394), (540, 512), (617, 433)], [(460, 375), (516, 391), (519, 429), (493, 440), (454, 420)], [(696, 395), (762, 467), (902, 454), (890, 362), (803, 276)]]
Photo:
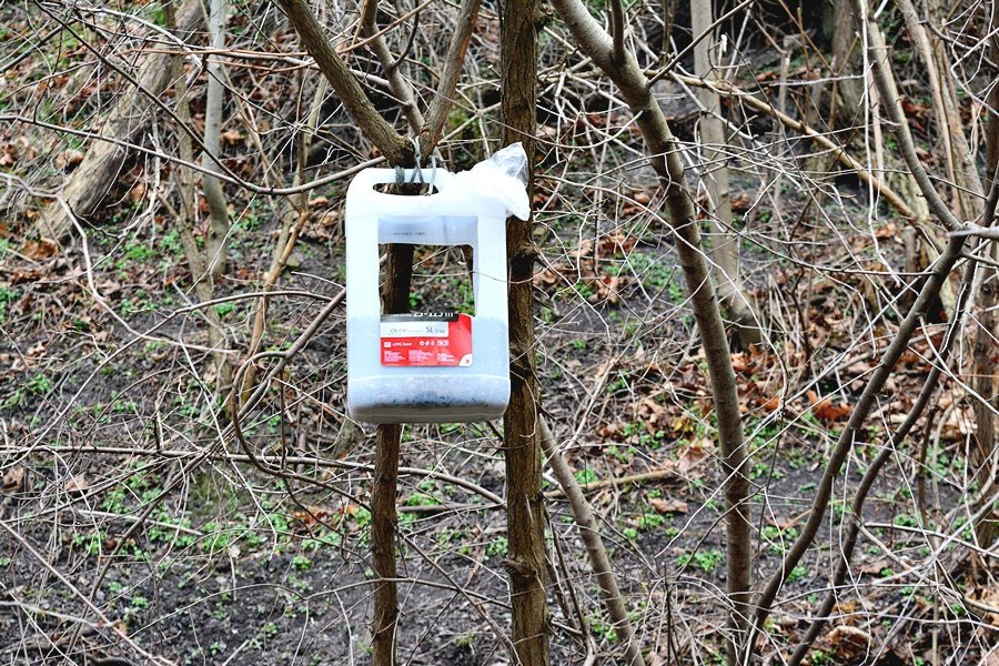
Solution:
[(472, 365), (472, 317), (426, 312), (382, 315), (382, 365), (391, 367)]

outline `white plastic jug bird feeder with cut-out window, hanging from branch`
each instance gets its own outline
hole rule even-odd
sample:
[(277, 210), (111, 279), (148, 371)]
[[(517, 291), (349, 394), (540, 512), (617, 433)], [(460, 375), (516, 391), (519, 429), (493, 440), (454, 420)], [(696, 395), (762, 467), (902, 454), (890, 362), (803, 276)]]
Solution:
[[(506, 218), (529, 215), (519, 143), (471, 171), (406, 171), (436, 192), (385, 194), (391, 169), (366, 169), (346, 196), (347, 412), (370, 423), (453, 423), (509, 402)], [(471, 245), (475, 314), (382, 314), (379, 244)]]

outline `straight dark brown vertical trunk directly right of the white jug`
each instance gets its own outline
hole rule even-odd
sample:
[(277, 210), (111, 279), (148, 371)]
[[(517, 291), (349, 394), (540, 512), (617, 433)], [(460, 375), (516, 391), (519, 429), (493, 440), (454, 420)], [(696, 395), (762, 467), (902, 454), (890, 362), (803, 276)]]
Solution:
[[(507, 0), (500, 36), (503, 144), (521, 141), (528, 160), (527, 195), (534, 180), (537, 108), (537, 0)], [(534, 261), (532, 222), (508, 219), (509, 407), (503, 417), (506, 460), (506, 513), (513, 608), (513, 643), (522, 666), (548, 666), (545, 595), (545, 523), (538, 386), (534, 360)]]

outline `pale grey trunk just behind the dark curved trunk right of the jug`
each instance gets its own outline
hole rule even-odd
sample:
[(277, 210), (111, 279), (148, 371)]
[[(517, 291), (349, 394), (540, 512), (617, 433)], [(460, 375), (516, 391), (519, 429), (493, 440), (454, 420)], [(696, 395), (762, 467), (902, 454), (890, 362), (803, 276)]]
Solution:
[[(697, 38), (710, 29), (714, 22), (713, 0), (690, 0), (690, 22)], [(715, 39), (708, 36), (694, 47), (695, 74), (714, 81), (717, 65), (714, 60)], [(739, 235), (733, 228), (731, 192), (728, 185), (728, 154), (725, 124), (722, 122), (719, 95), (710, 88), (700, 88), (697, 97), (704, 107), (698, 123), (698, 138), (704, 179), (708, 198), (708, 222), (712, 230), (710, 258), (716, 289), (728, 315), (738, 330), (743, 349), (764, 342), (758, 317), (743, 292), (739, 276)]]

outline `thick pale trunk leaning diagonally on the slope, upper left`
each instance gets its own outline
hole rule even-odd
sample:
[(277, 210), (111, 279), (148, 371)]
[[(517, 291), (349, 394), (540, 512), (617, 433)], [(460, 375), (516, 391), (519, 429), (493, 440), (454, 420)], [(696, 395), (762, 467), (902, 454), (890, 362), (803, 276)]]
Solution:
[[(186, 39), (200, 24), (204, 13), (200, 0), (184, 0), (176, 9), (176, 34)], [(101, 137), (119, 141), (135, 142), (142, 131), (154, 118), (154, 98), (160, 98), (170, 87), (171, 61), (169, 52), (150, 53), (139, 70), (138, 80), (141, 88), (125, 92), (111, 110)], [(83, 161), (77, 167), (69, 180), (63, 184), (60, 195), (78, 218), (92, 214), (104, 195), (114, 184), (129, 151), (120, 145), (95, 141)], [(65, 215), (62, 206), (49, 205), (38, 221), (36, 231), (39, 235), (62, 241), (70, 232), (72, 221)]]

